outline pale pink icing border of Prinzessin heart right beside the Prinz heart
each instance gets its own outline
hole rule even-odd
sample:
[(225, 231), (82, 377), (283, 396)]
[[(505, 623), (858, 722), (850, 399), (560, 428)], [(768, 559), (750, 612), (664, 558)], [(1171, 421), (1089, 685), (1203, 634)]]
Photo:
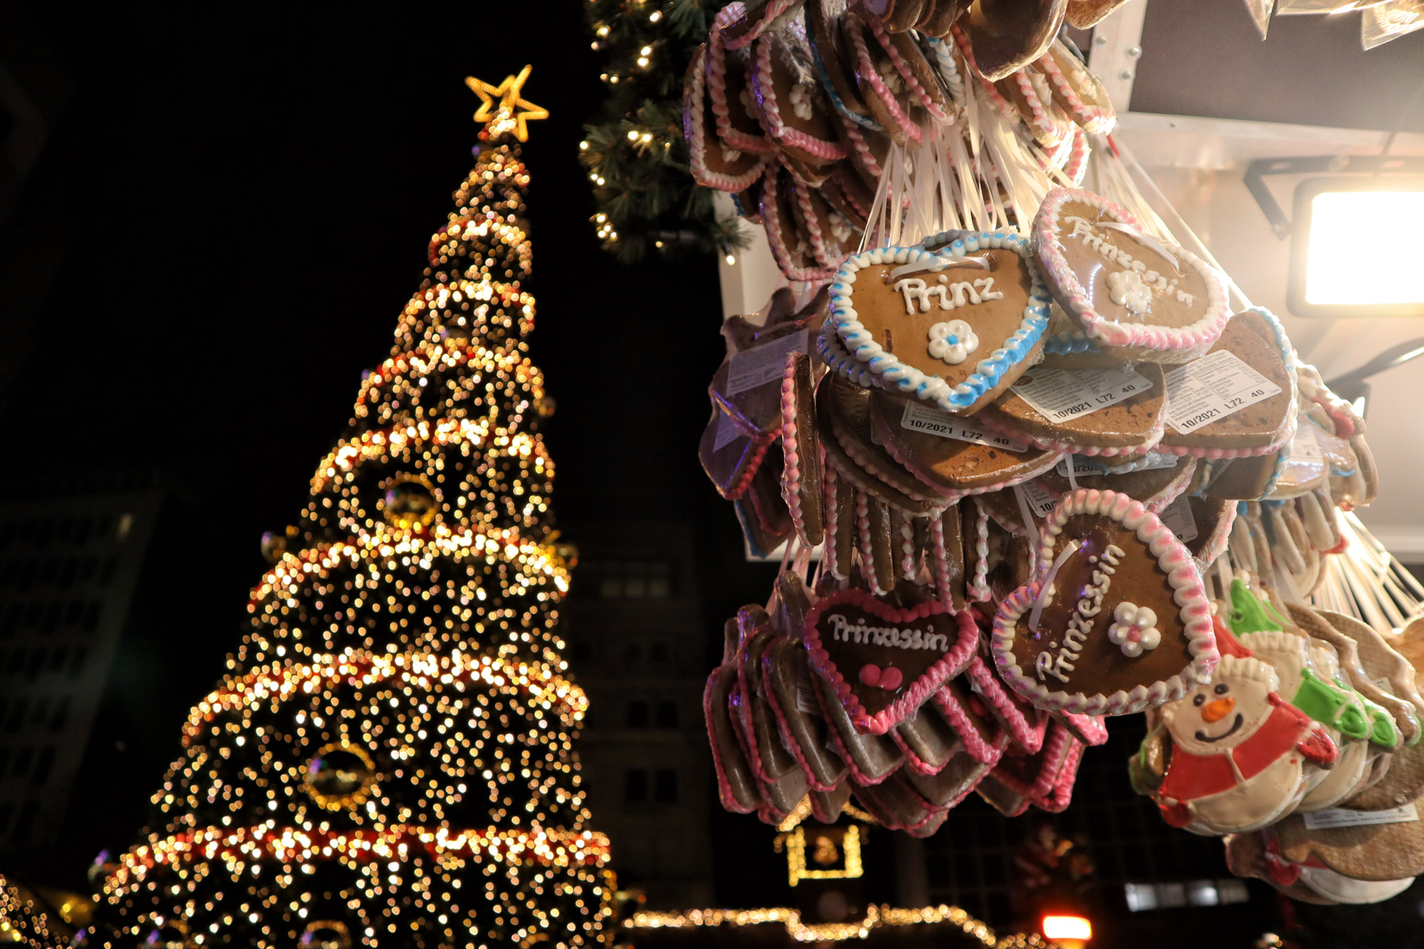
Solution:
[(1068, 201), (1079, 201), (1092, 205), (1099, 211), (1106, 211), (1119, 224), (1139, 228), (1136, 218), (1112, 201), (1084, 191), (1082, 188), (1054, 188), (1044, 198), (1044, 204), (1034, 217), (1032, 241), (1038, 262), (1047, 278), (1051, 278), (1054, 296), (1065, 311), (1078, 318), (1084, 332), (1089, 339), (1095, 339), (1108, 346), (1141, 346), (1155, 351), (1179, 351), (1208, 348), (1222, 335), (1226, 321), (1230, 318), (1230, 302), (1226, 298), (1226, 282), (1216, 268), (1210, 266), (1190, 251), (1175, 247), (1173, 252), (1188, 266), (1196, 268), (1206, 284), (1206, 312), (1195, 323), (1188, 326), (1158, 326), (1153, 323), (1119, 323), (1106, 319), (1094, 309), (1092, 298), (1078, 282), (1078, 275), (1068, 266), (1064, 258), (1058, 235), (1058, 212)]

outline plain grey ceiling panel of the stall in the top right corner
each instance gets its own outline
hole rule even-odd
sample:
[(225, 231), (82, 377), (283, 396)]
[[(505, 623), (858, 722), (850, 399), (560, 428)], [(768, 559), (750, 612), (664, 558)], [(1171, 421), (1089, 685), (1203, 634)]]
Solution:
[(1424, 85), (1424, 30), (1364, 51), (1358, 13), (1277, 16), (1259, 37), (1243, 0), (1151, 0), (1132, 110), (1388, 130)]

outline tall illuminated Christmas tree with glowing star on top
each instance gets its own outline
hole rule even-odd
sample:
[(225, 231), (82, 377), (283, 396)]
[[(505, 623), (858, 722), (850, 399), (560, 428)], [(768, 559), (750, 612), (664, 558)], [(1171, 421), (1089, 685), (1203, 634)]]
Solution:
[(585, 831), (550, 530), (551, 402), (521, 214), (528, 77), (481, 98), (477, 164), (271, 544), (252, 628), (184, 728), (147, 841), (100, 895), (108, 946), (584, 946), (607, 839)]

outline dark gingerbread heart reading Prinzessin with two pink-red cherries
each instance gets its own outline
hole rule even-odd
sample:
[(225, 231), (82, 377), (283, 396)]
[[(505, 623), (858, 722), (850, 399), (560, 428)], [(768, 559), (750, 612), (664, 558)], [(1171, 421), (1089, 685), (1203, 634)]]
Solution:
[[(856, 730), (873, 735), (886, 734), (964, 671), (977, 645), (968, 611), (938, 601), (901, 610), (849, 588), (806, 617), (812, 668), (834, 690)], [(876, 684), (866, 683), (867, 674)]]

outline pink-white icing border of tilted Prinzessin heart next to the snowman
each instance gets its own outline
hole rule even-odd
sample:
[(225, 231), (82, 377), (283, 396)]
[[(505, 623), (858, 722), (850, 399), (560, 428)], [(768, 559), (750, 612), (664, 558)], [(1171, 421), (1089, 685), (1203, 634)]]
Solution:
[[(1180, 607), (1179, 617), (1186, 636), (1186, 648), (1192, 661), (1178, 674), (1153, 683), (1138, 685), (1131, 693), (1122, 690), (1112, 695), (1096, 693), (1065, 693), (1051, 690), (1027, 675), (1014, 657), (1012, 647), (1018, 620), (1032, 610), (1044, 581), (1054, 563), (1054, 547), (1064, 524), (1075, 514), (1098, 514), (1121, 523), (1136, 533), (1138, 540), (1148, 546), (1158, 559), (1158, 567), (1172, 586), (1173, 598)], [(994, 617), (994, 631), (990, 650), (994, 664), (1004, 681), (1034, 705), (1049, 711), (1069, 711), (1088, 715), (1124, 715), (1142, 711), (1162, 702), (1176, 701), (1212, 677), (1219, 654), (1216, 634), (1212, 631), (1212, 610), (1202, 587), (1202, 576), (1196, 570), (1190, 551), (1172, 534), (1158, 516), (1126, 494), (1081, 489), (1064, 494), (1048, 520), (1040, 529), (1038, 576), (1028, 586), (1014, 590), (1000, 606)]]

